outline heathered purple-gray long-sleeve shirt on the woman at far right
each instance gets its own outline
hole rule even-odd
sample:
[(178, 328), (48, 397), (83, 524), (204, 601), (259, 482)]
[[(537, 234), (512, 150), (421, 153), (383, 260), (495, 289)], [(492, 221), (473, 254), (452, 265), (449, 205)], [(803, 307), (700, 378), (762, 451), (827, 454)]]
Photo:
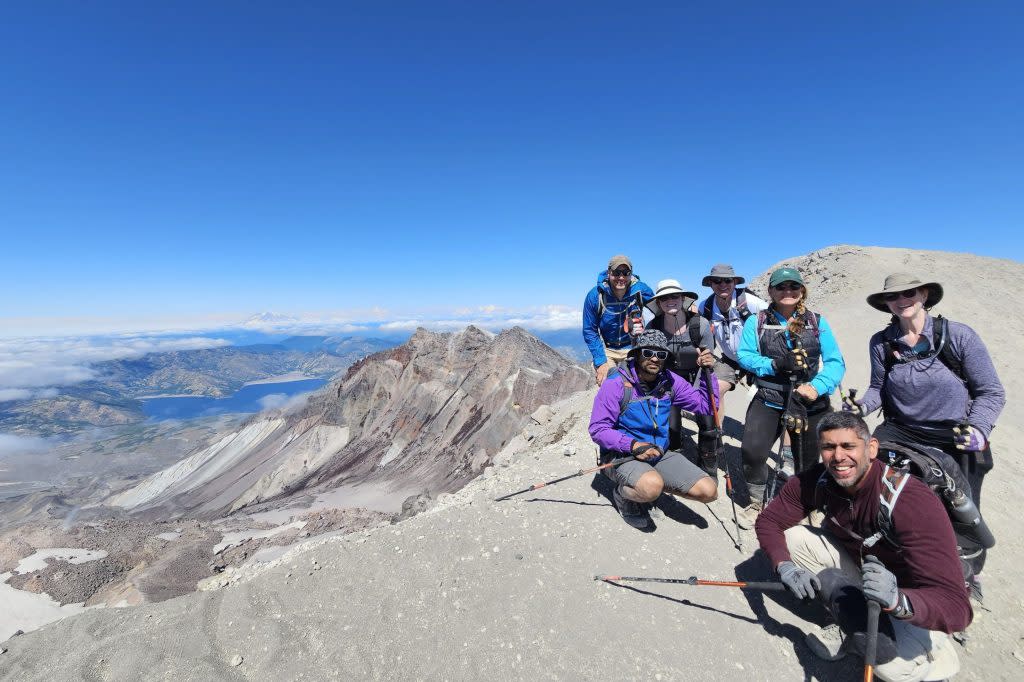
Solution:
[[(933, 327), (933, 317), (928, 315), (922, 339), (930, 348)], [(885, 402), (887, 417), (907, 426), (951, 426), (966, 418), (987, 438), (1007, 401), (1006, 391), (981, 337), (967, 325), (956, 322), (947, 321), (946, 330), (946, 343), (961, 358), (967, 385), (938, 355), (896, 363), (886, 379), (887, 341), (903, 357), (914, 354), (902, 341), (899, 325), (890, 325), (868, 342), (871, 382), (864, 393), (864, 411), (874, 412)]]

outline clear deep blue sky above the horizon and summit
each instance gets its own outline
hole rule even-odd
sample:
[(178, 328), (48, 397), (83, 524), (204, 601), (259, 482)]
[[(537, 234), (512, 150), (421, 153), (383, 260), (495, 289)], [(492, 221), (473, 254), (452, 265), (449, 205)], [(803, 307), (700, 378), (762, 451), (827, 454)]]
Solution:
[(1021, 258), (1020, 2), (498, 5), (8, 4), (0, 325)]

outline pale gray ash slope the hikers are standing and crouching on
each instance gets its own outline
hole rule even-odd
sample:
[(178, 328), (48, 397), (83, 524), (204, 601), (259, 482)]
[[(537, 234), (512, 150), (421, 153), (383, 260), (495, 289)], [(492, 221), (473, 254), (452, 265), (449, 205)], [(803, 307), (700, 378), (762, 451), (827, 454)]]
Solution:
[[(788, 262), (808, 272), (812, 308), (838, 330), (849, 385), (863, 386), (867, 339), (885, 323), (863, 298), (898, 265), (931, 268), (948, 292), (942, 311), (981, 332), (1002, 373), (1010, 404), (994, 436), (996, 470), (986, 481), (984, 505), (999, 544), (986, 569), (989, 610), (972, 626), (957, 679), (1020, 679), (1024, 600), (1017, 586), (1024, 551), (1014, 502), (1024, 482), (1024, 449), (1014, 360), (1024, 349), (1019, 336), (995, 343), (1005, 309), (986, 307), (989, 296), (974, 297), (969, 283), (987, 278), (1001, 293), (1024, 268), (959, 254), (835, 249)], [(812, 279), (813, 265), (836, 255), (833, 269), (846, 274), (829, 293)], [(592, 464), (586, 432), (592, 395), (553, 406), (550, 421), (528, 424), (482, 476), (424, 513), (312, 540), (275, 562), (240, 571), (222, 589), (91, 611), (14, 638), (5, 643), (10, 650), (0, 659), (0, 677), (860, 679), (856, 660), (815, 659), (802, 642), (807, 626), (758, 595), (592, 580), (599, 572), (757, 577), (753, 536), (744, 534), (744, 551), (737, 552), (719, 521), (729, 517), (726, 500), (669, 506), (655, 514), (652, 535), (622, 523), (589, 477), (492, 502)], [(729, 415), (741, 419), (744, 402), (734, 394)], [(728, 438), (727, 444), (735, 456), (738, 443)], [(575, 454), (565, 457), (566, 446)]]

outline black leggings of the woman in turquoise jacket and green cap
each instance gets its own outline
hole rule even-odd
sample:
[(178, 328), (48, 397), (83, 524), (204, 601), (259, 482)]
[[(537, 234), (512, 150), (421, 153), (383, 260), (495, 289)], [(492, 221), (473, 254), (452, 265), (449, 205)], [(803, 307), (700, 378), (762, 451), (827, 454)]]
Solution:
[[(797, 399), (797, 398), (795, 398)], [(830, 410), (807, 416), (807, 430), (797, 434), (790, 431), (793, 443), (794, 466), (797, 472), (806, 471), (818, 462), (818, 438), (815, 435), (818, 422)], [(769, 408), (764, 400), (755, 397), (746, 408), (743, 420), (743, 477), (748, 484), (764, 485), (768, 480), (768, 456), (779, 436), (782, 435), (782, 411)]]

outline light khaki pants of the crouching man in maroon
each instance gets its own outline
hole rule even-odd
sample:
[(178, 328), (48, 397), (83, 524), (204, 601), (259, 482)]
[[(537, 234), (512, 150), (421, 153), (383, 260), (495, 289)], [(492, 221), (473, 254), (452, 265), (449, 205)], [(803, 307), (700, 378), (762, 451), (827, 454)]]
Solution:
[[(785, 544), (793, 561), (815, 573), (839, 568), (860, 583), (860, 567), (838, 543), (821, 528), (795, 525), (785, 531)], [(886, 682), (944, 680), (959, 671), (959, 658), (949, 635), (892, 619), (898, 655), (874, 667), (874, 674)]]

